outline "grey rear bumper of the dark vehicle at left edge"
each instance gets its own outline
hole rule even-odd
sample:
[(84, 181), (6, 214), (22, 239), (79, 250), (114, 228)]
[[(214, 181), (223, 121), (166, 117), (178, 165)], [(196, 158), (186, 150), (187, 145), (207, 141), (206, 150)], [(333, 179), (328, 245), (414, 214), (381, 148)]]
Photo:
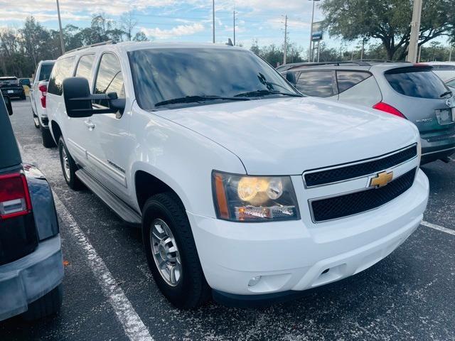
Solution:
[(33, 253), (0, 266), (0, 320), (28, 309), (63, 280), (60, 235), (38, 244)]

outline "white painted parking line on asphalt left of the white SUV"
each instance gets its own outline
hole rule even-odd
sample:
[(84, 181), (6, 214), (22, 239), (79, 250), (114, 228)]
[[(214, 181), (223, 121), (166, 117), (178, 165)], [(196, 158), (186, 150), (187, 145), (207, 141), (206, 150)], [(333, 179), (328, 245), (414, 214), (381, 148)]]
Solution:
[(141, 318), (139, 318), (139, 315), (137, 315), (136, 310), (134, 310), (122, 288), (115, 281), (114, 276), (107, 269), (105, 262), (98, 256), (95, 248), (92, 247), (92, 244), (90, 244), (84, 232), (82, 232), (82, 229), (75, 222), (73, 215), (68, 212), (58, 196), (55, 193), (53, 195), (58, 214), (62, 217), (65, 225), (68, 226), (70, 233), (75, 237), (77, 244), (83, 249), (83, 254), (87, 258), (90, 269), (95, 274), (95, 278), (102, 288), (102, 292), (109, 300), (112, 308), (114, 308), (114, 312), (129, 340), (153, 341), (154, 339), (151, 337), (149, 330)]

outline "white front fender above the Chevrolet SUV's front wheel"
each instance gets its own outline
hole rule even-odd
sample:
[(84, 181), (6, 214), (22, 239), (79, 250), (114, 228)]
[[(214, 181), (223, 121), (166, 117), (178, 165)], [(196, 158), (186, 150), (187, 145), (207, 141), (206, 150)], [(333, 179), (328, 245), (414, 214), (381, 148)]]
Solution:
[[(231, 151), (180, 124), (144, 112), (134, 105), (131, 131), (137, 132), (129, 183), (144, 171), (166, 183), (188, 212), (215, 217), (212, 171), (246, 174)], [(136, 187), (132, 191), (136, 195)], [(137, 195), (136, 195), (137, 197)], [(140, 211), (137, 204), (137, 210)]]

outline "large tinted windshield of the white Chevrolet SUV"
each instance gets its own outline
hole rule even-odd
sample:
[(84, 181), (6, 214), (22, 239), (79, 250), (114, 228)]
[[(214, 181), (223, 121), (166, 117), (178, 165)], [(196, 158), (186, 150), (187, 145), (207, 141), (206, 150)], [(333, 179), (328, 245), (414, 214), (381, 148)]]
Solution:
[(132, 51), (129, 60), (137, 102), (146, 110), (183, 97), (298, 94), (277, 71), (247, 50), (156, 48)]

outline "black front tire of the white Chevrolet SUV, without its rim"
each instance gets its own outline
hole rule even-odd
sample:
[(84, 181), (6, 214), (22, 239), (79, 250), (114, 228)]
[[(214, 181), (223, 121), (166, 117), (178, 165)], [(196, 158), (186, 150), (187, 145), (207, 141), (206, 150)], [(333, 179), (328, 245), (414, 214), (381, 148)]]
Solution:
[[(181, 257), (181, 278), (176, 286), (168, 284), (161, 276), (153, 258), (150, 240), (151, 223), (161, 219), (168, 225)], [(191, 309), (209, 300), (211, 290), (200, 266), (193, 232), (183, 204), (174, 193), (154, 195), (142, 210), (142, 239), (147, 262), (156, 286), (176, 308)]]

